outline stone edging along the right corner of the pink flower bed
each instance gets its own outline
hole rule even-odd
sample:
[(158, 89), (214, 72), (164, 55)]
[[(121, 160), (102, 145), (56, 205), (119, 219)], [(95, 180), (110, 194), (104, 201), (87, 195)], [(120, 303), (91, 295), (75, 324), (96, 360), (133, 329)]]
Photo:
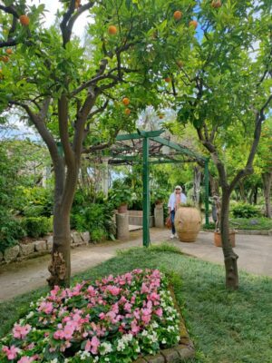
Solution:
[(189, 358), (195, 357), (195, 348), (193, 342), (189, 338), (189, 333), (186, 329), (184, 319), (182, 318), (181, 311), (177, 299), (175, 297), (174, 290), (170, 286), (170, 293), (174, 300), (175, 308), (180, 314), (180, 344), (167, 349), (161, 349), (160, 353), (154, 356), (144, 356), (133, 363), (181, 363)]

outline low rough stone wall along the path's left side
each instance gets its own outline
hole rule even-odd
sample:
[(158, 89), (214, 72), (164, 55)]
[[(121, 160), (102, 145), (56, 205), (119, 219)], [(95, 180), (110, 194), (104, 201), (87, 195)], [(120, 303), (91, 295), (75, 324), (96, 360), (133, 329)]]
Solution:
[[(87, 245), (90, 242), (89, 232), (71, 233), (71, 247)], [(10, 247), (3, 252), (0, 252), (0, 265), (10, 262), (32, 259), (37, 256), (51, 253), (53, 248), (53, 236), (46, 236), (44, 239), (34, 240), (30, 243), (19, 243), (14, 247)]]

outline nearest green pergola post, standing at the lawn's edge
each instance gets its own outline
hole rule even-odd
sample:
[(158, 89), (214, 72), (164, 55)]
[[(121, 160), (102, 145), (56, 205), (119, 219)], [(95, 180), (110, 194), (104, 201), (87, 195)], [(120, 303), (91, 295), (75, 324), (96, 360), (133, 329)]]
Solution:
[(150, 163), (149, 163), (149, 146), (148, 137), (142, 140), (142, 185), (143, 185), (143, 208), (142, 208), (142, 244), (149, 247), (150, 237)]

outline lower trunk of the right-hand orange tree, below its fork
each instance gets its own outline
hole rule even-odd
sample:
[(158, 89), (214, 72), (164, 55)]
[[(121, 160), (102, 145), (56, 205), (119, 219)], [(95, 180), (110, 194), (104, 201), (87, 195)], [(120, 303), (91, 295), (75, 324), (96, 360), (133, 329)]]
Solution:
[(226, 270), (226, 287), (228, 289), (238, 289), (238, 255), (232, 250), (229, 240), (229, 199), (230, 192), (226, 188), (222, 188), (220, 231)]

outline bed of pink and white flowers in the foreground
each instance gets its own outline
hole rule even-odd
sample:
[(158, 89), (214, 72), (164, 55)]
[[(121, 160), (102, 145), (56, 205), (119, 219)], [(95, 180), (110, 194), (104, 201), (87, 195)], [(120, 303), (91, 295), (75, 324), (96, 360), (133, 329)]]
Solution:
[(159, 270), (55, 287), (0, 341), (1, 362), (129, 363), (180, 340), (180, 318)]

